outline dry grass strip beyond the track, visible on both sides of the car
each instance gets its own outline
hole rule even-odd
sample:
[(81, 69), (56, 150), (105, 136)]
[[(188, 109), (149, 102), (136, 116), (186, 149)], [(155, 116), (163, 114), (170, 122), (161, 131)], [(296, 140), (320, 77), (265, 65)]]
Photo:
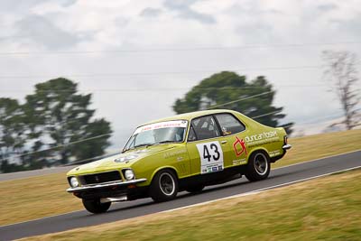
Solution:
[[(361, 130), (294, 138), (290, 144), (292, 150), (273, 168), (359, 150)], [(1, 181), (0, 190), (5, 198), (0, 206), (0, 225), (83, 209), (81, 201), (65, 191), (68, 186), (65, 173)]]

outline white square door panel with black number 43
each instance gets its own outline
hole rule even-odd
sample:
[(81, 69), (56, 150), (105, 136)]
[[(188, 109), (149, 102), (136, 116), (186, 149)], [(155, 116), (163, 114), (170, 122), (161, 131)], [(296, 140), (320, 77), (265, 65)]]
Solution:
[(210, 163), (223, 164), (223, 151), (219, 142), (197, 144), (201, 165)]

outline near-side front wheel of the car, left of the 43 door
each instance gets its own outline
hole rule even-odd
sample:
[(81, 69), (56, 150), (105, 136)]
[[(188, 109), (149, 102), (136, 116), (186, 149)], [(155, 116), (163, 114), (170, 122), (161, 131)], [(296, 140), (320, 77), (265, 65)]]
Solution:
[(151, 183), (149, 196), (155, 202), (174, 199), (178, 193), (178, 179), (173, 171), (158, 171)]

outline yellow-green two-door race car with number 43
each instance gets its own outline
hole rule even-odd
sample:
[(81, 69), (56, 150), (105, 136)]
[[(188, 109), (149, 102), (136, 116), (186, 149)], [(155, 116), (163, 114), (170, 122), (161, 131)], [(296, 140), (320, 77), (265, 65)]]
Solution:
[(166, 201), (242, 175), (264, 180), (270, 163), (290, 148), (283, 128), (236, 111), (171, 116), (137, 127), (122, 153), (69, 171), (67, 191), (92, 213), (105, 212), (114, 201)]

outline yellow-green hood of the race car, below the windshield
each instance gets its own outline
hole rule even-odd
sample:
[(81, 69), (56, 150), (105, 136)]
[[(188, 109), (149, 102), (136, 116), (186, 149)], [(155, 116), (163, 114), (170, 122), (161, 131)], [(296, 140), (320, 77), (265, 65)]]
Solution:
[(143, 159), (144, 157), (150, 156), (154, 153), (166, 151), (174, 147), (174, 144), (162, 144), (137, 148), (131, 151), (127, 151), (126, 153), (120, 153), (106, 157), (96, 162), (89, 162), (87, 164), (80, 165), (79, 167), (70, 170), (67, 175), (79, 175), (100, 171), (110, 171), (114, 170), (115, 168), (121, 169), (130, 167), (131, 164)]

